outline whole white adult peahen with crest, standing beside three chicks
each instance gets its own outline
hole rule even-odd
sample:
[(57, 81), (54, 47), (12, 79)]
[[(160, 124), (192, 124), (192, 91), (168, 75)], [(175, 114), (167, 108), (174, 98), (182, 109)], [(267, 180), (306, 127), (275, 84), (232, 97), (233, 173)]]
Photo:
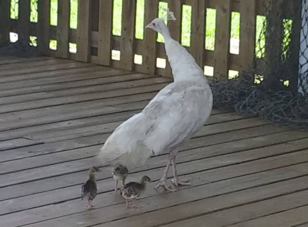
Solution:
[[(175, 20), (168, 11), (168, 20)], [(168, 163), (156, 188), (166, 184), (170, 165), (172, 183), (180, 181), (176, 173), (175, 157), (180, 145), (191, 138), (208, 119), (213, 103), (212, 91), (195, 59), (171, 38), (162, 18), (156, 18), (146, 28), (161, 33), (174, 82), (164, 87), (138, 114), (123, 122), (100, 149), (104, 163), (121, 163), (129, 168), (142, 165), (151, 155), (168, 153)]]

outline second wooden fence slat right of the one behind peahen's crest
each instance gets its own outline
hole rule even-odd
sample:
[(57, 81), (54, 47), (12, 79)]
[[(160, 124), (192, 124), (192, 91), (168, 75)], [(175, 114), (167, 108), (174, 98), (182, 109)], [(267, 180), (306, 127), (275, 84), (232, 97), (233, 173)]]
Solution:
[(216, 37), (214, 76), (228, 74), (230, 47), (231, 0), (219, 0), (216, 5)]

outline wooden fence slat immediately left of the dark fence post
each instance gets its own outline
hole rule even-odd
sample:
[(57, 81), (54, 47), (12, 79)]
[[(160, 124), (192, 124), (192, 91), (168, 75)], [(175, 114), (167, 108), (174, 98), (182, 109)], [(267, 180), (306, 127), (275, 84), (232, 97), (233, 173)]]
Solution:
[(91, 3), (91, 0), (78, 0), (77, 61), (88, 62), (90, 60)]

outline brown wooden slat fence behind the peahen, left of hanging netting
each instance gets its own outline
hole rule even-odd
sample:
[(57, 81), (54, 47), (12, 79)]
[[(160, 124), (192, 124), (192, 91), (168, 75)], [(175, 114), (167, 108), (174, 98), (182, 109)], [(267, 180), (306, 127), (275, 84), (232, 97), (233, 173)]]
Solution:
[[(13, 0), (17, 1), (17, 0)], [(8, 39), (9, 32), (37, 37), (37, 48), (46, 55), (76, 59), (129, 71), (171, 76), (156, 67), (156, 58), (166, 59), (164, 44), (156, 41), (156, 32), (144, 30), (143, 39), (135, 38), (136, 2), (123, 0), (121, 35), (112, 35), (112, 0), (78, 0), (78, 26), (71, 29), (70, 0), (58, 0), (57, 26), (50, 25), (50, 0), (38, 0), (38, 20), (30, 22), (32, 0), (20, 0), (18, 19), (10, 19), (11, 0), (1, 0), (1, 32)], [(158, 16), (159, 0), (144, 1), (144, 26)], [(251, 66), (255, 54), (256, 15), (264, 15), (263, 0), (165, 0), (177, 20), (168, 22), (174, 39), (181, 39), (182, 6), (192, 7), (191, 45), (188, 51), (197, 63), (213, 67), (214, 75), (227, 75), (229, 70), (241, 71)], [(295, 0), (286, 1), (288, 13), (295, 12)], [(215, 49), (205, 49), (205, 22), (207, 8), (216, 9)], [(293, 11), (294, 10), (294, 11)], [(239, 12), (239, 54), (230, 54), (231, 13)], [(49, 41), (57, 40), (57, 50), (50, 50)], [(77, 44), (77, 53), (70, 53), (68, 43)], [(120, 51), (120, 60), (111, 59), (111, 51)], [(142, 64), (135, 64), (135, 54), (142, 55)], [(168, 62), (168, 61), (167, 61)]]

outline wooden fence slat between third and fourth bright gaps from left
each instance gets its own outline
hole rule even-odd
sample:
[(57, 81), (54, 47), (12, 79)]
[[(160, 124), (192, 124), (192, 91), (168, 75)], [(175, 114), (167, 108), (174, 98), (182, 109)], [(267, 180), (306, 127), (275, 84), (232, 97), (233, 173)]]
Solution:
[(58, 0), (57, 52), (56, 56), (68, 58), (68, 29), (70, 21), (70, 1)]

